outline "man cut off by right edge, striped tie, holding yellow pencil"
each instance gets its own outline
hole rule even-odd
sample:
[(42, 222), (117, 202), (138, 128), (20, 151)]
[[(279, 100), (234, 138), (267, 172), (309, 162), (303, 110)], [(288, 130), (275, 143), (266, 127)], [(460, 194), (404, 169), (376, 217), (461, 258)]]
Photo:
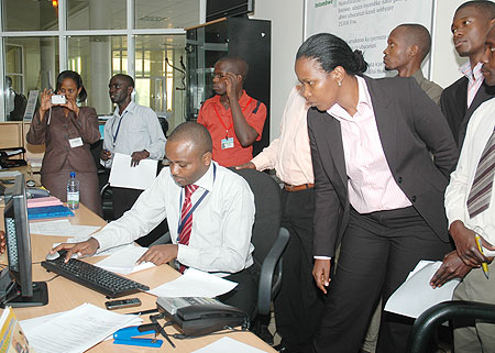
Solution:
[[(481, 57), (485, 84), (495, 86), (495, 26), (488, 31)], [(431, 278), (439, 287), (453, 277), (463, 278), (454, 300), (495, 304), (495, 99), (473, 113), (458, 167), (446, 190), (446, 213), (457, 250), (449, 253)], [(488, 264), (490, 263), (490, 264)], [(454, 323), (457, 353), (495, 352), (495, 324), (476, 320), (474, 326)]]

